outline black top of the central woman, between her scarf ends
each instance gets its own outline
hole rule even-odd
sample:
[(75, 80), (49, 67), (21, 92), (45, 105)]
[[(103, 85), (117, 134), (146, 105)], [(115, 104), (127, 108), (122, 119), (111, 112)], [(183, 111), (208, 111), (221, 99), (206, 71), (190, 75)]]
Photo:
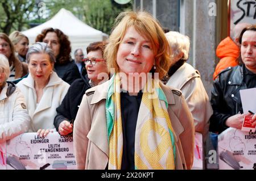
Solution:
[(122, 170), (134, 170), (135, 130), (141, 105), (142, 91), (137, 96), (121, 92), (121, 115), (123, 128)]

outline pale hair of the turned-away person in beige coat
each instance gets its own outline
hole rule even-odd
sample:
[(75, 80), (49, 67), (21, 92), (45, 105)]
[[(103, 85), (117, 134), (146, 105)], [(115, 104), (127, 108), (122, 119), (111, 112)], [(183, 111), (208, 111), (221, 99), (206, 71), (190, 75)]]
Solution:
[(166, 33), (166, 37), (170, 45), (171, 58), (178, 56), (180, 53), (183, 53), (183, 60), (188, 60), (188, 52), (190, 46), (189, 37), (176, 31), (170, 31)]

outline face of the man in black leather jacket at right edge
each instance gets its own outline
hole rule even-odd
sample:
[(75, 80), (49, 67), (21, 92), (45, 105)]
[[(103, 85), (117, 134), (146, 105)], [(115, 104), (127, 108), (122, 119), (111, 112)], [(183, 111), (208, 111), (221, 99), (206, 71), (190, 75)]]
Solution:
[(256, 73), (256, 31), (245, 31), (241, 42), (241, 58), (250, 71)]

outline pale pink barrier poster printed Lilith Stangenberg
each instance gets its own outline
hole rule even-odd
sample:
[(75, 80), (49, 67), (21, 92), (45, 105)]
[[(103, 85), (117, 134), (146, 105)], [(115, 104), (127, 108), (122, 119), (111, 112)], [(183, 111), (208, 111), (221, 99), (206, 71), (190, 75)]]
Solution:
[(24, 133), (6, 142), (6, 169), (76, 169), (72, 135)]

